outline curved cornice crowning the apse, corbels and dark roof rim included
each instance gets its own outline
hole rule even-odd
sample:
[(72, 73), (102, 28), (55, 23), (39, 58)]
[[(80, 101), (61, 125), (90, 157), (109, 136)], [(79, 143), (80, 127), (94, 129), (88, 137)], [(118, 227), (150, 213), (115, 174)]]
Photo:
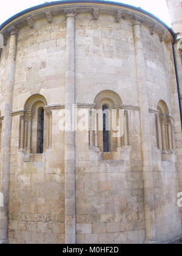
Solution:
[(131, 5), (109, 1), (57, 1), (38, 5), (18, 13), (3, 23), (0, 26), (0, 34), (7, 35), (8, 29), (12, 26), (20, 29), (29, 24), (30, 27), (33, 27), (34, 23), (42, 18), (53, 22), (53, 16), (65, 15), (65, 10), (70, 8), (78, 14), (92, 13), (93, 20), (98, 20), (101, 14), (115, 16), (116, 22), (120, 22), (121, 18), (133, 20), (135, 17), (135, 20), (143, 21), (142, 24), (149, 27), (150, 34), (164, 35), (162, 38), (164, 41), (172, 41), (175, 37), (174, 32), (152, 14)]

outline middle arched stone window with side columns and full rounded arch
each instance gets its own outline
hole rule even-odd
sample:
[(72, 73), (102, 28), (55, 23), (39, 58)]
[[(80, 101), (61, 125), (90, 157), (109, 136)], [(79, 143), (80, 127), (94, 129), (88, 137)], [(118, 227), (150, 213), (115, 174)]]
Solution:
[(128, 146), (128, 116), (120, 96), (114, 91), (101, 91), (94, 103), (95, 108), (90, 109), (90, 146), (103, 152)]

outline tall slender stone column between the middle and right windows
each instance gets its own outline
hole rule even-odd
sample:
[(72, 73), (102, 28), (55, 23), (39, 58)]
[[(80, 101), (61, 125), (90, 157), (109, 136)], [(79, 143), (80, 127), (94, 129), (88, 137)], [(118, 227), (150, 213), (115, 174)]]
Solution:
[(139, 20), (133, 20), (133, 40), (135, 46), (136, 75), (141, 119), (141, 146), (143, 154), (144, 212), (146, 229), (145, 243), (156, 243), (149, 101), (146, 84), (143, 41), (141, 36), (141, 21)]

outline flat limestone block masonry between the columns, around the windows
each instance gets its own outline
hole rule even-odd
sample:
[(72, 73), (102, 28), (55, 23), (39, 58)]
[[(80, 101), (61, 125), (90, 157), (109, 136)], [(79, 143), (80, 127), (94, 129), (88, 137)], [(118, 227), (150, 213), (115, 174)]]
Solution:
[[(136, 76), (138, 54), (135, 55), (130, 19), (116, 23), (115, 15), (100, 13), (96, 21), (92, 20), (91, 13), (78, 13), (75, 20), (75, 62), (74, 58), (67, 62), (67, 57), (73, 54), (73, 47), (67, 47), (66, 40), (70, 38), (66, 38), (65, 15), (56, 15), (53, 20), (54, 23), (48, 23), (46, 19), (36, 20), (35, 29), (28, 26), (19, 29), (13, 112), (23, 110), (32, 94), (42, 94), (47, 105), (54, 107), (52, 145), (42, 155), (24, 155), (19, 151), (19, 115), (12, 117), (8, 149), (11, 152), (9, 243), (64, 243), (65, 231), (70, 241), (75, 243), (75, 218), (71, 215), (75, 207), (76, 243), (144, 243), (145, 217), (146, 224), (152, 224), (151, 215), (144, 214), (143, 204), (144, 199), (151, 201), (151, 180), (155, 194), (155, 207), (152, 208), (155, 208), (159, 241), (180, 235), (181, 216), (176, 206), (176, 191), (182, 187), (181, 172), (177, 172), (182, 159), (181, 123), (175, 105), (178, 99), (171, 43), (161, 43), (157, 32), (150, 35), (145, 22), (141, 24), (143, 65), (146, 68), (146, 79), (141, 81), (144, 73), (139, 65), (140, 74)], [(0, 35), (1, 46), (3, 41)], [(5, 116), (8, 52), (7, 44), (0, 60), (1, 116)], [(76, 67), (75, 79), (73, 63)], [(138, 84), (137, 79), (140, 80)], [(68, 82), (70, 88), (67, 87)], [(74, 82), (76, 87), (72, 88)], [(138, 93), (139, 86), (141, 95)], [(149, 102), (147, 97), (140, 100), (140, 96), (146, 94), (146, 87)], [(65, 103), (67, 93), (73, 99), (73, 89), (79, 104), (94, 104), (96, 95), (103, 90), (118, 93), (128, 112), (129, 147), (104, 153), (102, 158), (103, 152), (99, 148), (89, 148), (88, 132), (76, 132), (75, 137), (73, 133), (67, 133), (65, 137), (64, 132), (60, 132), (56, 105)], [(166, 101), (170, 114), (175, 116), (174, 154), (161, 155), (157, 149), (154, 110), (160, 99)], [(143, 124), (142, 115), (148, 115), (148, 107), (153, 108), (153, 112)], [(150, 127), (143, 140), (142, 124), (144, 129)], [(10, 126), (7, 129), (10, 131)], [(149, 133), (151, 148), (146, 143)], [(103, 143), (103, 138), (99, 141)], [(141, 151), (141, 143), (144, 151)], [(151, 149), (153, 175), (149, 175)], [(0, 179), (3, 190), (6, 178), (1, 176)], [(68, 190), (66, 201), (65, 185)], [(5, 234), (4, 216), (1, 215), (0, 219), (1, 233)]]

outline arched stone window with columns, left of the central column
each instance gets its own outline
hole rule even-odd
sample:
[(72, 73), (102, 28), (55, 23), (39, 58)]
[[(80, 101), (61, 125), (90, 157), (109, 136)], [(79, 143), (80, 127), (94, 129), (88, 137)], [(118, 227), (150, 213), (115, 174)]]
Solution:
[(44, 109), (46, 105), (40, 94), (34, 94), (25, 102), (24, 113), (20, 117), (19, 147), (27, 153), (42, 154), (45, 148), (50, 147), (51, 112)]

